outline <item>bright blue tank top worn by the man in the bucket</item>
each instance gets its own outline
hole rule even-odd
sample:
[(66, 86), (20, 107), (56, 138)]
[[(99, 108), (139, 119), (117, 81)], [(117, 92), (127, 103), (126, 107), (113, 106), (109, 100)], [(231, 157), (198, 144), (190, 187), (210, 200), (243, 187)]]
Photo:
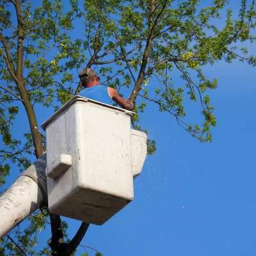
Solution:
[(108, 95), (108, 88), (102, 85), (94, 85), (90, 88), (84, 88), (84, 90), (78, 93), (78, 95), (112, 105), (111, 99)]

